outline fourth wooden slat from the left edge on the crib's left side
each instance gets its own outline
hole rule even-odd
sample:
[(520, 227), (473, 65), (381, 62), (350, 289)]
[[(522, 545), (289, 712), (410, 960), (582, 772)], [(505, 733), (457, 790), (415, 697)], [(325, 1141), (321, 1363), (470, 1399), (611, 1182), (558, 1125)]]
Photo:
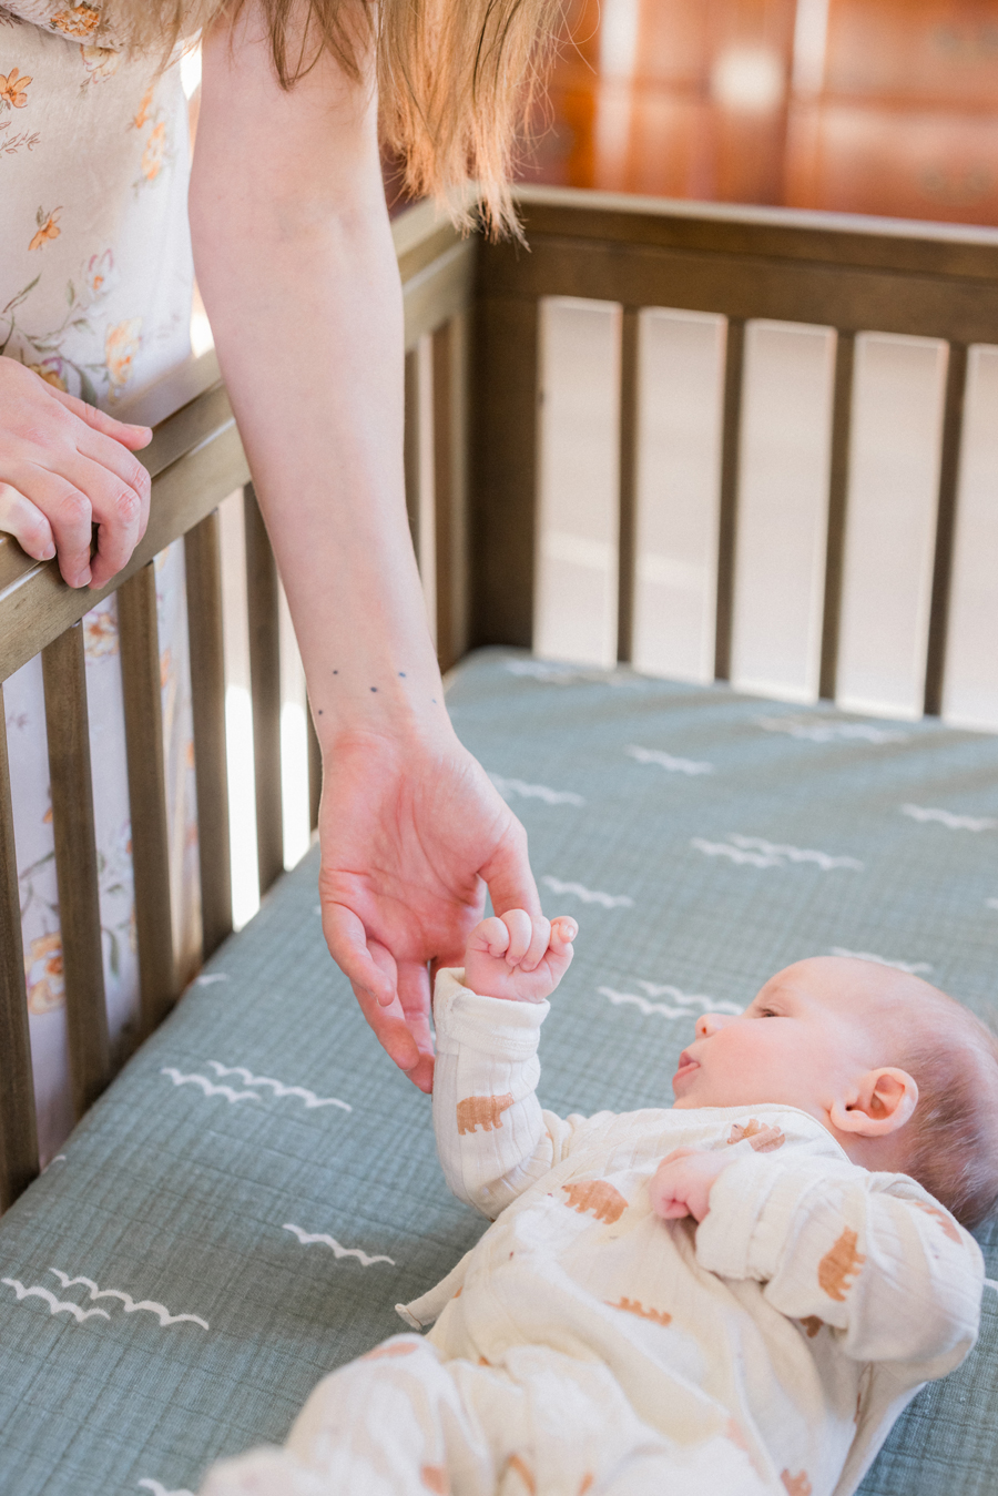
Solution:
[(202, 953), (206, 960), (232, 932), (221, 531), (217, 509), (184, 536), (184, 564), (198, 784)]

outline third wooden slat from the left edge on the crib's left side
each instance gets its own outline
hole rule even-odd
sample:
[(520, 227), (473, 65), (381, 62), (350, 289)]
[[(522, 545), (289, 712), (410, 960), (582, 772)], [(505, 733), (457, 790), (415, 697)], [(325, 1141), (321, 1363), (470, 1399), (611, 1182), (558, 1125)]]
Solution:
[(141, 1032), (145, 1037), (166, 1017), (178, 998), (153, 561), (118, 589), (118, 624), (132, 806)]

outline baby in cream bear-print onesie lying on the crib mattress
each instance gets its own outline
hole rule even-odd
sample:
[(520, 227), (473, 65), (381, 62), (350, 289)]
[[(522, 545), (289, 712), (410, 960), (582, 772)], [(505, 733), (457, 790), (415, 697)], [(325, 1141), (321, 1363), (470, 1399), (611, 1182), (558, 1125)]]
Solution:
[(697, 1020), (673, 1107), (561, 1119), (536, 1050), (575, 935), (512, 911), (437, 977), (440, 1159), (494, 1225), (399, 1306), (432, 1330), (205, 1496), (848, 1496), (973, 1346), (988, 1031), (917, 977), (800, 960)]

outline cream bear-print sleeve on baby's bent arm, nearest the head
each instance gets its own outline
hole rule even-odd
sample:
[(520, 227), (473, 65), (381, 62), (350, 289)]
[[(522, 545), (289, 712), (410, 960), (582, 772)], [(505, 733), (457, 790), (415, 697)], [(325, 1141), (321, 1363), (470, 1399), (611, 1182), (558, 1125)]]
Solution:
[(914, 1180), (854, 1164), (748, 1155), (711, 1188), (697, 1261), (754, 1278), (793, 1319), (820, 1319), (859, 1361), (944, 1376), (977, 1339), (985, 1264)]

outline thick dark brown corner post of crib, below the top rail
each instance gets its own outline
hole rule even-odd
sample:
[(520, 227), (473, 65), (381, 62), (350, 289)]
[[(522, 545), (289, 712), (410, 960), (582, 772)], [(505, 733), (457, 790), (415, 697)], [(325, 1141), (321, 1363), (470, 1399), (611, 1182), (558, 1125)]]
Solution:
[(471, 371), (471, 637), (530, 649), (537, 530), (537, 304), (482, 296)]

